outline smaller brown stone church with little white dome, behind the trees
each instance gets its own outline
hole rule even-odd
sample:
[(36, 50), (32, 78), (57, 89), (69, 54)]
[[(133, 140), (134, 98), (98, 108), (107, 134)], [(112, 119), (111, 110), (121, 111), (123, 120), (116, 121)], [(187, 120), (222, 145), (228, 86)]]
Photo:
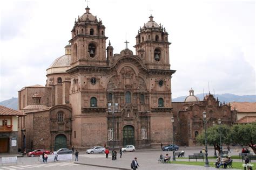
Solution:
[(189, 91), (189, 95), (184, 102), (172, 102), (175, 141), (181, 146), (195, 146), (196, 137), (204, 132), (203, 112), (207, 113), (207, 127), (217, 125), (218, 119), (221, 124), (232, 125), (237, 121), (237, 111), (231, 111), (230, 103), (221, 103), (212, 94), (204, 96), (200, 101), (194, 96), (194, 90)]

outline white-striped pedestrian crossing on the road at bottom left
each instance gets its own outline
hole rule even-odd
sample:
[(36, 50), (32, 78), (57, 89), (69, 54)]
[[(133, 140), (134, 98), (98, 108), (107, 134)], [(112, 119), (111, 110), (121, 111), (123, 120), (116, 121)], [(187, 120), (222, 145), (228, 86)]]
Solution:
[(18, 170), (18, 169), (36, 169), (36, 168), (51, 168), (53, 169), (54, 167), (61, 167), (61, 166), (80, 166), (78, 164), (73, 164), (71, 162), (57, 162), (57, 163), (46, 163), (46, 164), (26, 164), (26, 165), (4, 165), (0, 166), (0, 170)]

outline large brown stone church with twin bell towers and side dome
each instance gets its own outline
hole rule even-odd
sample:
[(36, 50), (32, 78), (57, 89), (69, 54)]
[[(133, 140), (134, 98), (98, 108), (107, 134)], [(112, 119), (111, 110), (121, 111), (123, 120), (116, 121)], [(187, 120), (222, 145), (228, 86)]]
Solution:
[[(136, 54), (113, 53), (102, 20), (90, 8), (76, 21), (70, 44), (46, 69), (46, 85), (18, 91), (19, 146), (149, 147), (172, 140), (168, 33), (149, 17), (136, 36)], [(110, 110), (107, 109), (111, 103)], [(118, 103), (114, 112), (112, 106)], [(114, 119), (113, 119), (114, 118)]]

